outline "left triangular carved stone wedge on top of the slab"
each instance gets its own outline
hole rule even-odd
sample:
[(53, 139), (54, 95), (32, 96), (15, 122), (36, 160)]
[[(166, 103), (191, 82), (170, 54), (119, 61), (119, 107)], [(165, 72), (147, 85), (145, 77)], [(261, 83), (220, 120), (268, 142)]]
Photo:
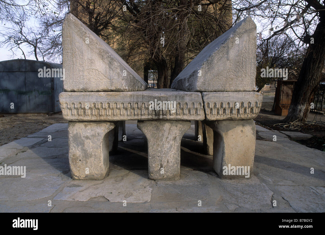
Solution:
[(101, 38), (72, 14), (62, 26), (66, 91), (135, 91), (148, 84)]

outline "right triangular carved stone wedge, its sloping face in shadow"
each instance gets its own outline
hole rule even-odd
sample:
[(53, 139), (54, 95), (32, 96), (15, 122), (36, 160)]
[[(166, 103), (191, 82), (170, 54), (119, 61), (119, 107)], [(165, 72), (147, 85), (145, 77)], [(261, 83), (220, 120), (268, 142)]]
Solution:
[(255, 76), (256, 24), (247, 17), (206, 46), (175, 78), (172, 88), (252, 91)]

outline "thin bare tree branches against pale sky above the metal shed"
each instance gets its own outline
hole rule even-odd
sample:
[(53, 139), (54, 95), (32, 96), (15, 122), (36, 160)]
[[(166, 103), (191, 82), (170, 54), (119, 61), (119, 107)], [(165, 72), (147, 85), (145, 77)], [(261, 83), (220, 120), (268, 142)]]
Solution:
[(44, 0), (15, 2), (0, 0), (1, 11), (6, 13), (2, 18), (3, 30), (0, 35), (3, 40), (0, 46), (8, 47), (13, 55), (14, 49), (19, 49), (24, 59), (32, 54), (36, 60), (41, 57), (43, 61), (51, 58), (60, 61), (57, 57), (62, 54), (60, 31), (63, 17), (59, 17), (59, 12), (53, 8), (59, 9), (63, 6), (62, 2), (55, 5)]

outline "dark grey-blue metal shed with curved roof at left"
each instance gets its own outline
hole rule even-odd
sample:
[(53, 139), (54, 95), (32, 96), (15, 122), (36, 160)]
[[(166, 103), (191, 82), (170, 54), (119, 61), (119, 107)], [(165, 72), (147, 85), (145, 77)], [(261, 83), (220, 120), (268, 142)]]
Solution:
[(52, 77), (52, 73), (50, 77), (39, 77), (39, 69), (44, 67), (62, 69), (62, 64), (24, 59), (0, 62), (1, 113), (61, 111), (59, 94), (63, 92), (63, 80)]

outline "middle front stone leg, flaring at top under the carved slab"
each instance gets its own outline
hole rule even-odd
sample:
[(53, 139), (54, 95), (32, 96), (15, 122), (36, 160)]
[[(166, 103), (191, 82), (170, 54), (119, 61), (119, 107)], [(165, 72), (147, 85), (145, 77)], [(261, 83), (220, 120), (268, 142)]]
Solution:
[(178, 180), (181, 139), (191, 122), (138, 121), (137, 127), (148, 140), (149, 179)]

